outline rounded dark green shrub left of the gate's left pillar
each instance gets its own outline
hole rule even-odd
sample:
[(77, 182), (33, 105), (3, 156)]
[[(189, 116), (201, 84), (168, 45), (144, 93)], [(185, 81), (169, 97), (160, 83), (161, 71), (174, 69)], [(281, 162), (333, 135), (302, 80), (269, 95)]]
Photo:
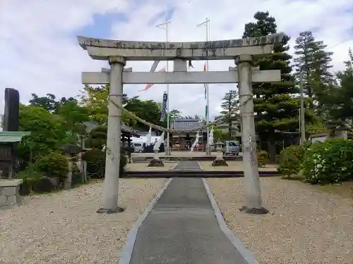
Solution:
[(39, 156), (35, 161), (35, 166), (47, 177), (66, 178), (68, 172), (68, 161), (59, 151), (53, 151), (45, 156)]

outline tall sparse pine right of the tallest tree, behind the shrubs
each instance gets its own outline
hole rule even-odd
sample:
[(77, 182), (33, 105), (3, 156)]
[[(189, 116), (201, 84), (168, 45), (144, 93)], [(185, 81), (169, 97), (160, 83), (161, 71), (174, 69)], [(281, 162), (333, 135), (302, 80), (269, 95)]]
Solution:
[[(325, 51), (326, 45), (322, 41), (316, 41), (312, 32), (304, 31), (296, 39), (294, 54), (297, 73), (301, 70), (303, 89), (311, 99), (311, 108), (316, 108), (323, 113), (323, 96), (328, 92), (328, 86), (333, 82), (333, 74), (330, 73), (332, 52)], [(298, 76), (298, 75), (297, 75)]]

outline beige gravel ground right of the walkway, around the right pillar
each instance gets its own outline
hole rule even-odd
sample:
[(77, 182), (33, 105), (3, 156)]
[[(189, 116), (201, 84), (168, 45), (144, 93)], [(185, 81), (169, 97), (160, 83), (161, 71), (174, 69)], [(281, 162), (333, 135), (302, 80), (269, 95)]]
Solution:
[(261, 178), (267, 215), (247, 215), (242, 178), (209, 179), (227, 225), (261, 264), (352, 264), (353, 199), (318, 187)]

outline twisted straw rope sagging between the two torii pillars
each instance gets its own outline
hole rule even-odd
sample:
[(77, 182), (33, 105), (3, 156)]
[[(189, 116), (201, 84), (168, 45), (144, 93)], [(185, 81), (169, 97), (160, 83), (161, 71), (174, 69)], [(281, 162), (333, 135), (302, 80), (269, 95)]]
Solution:
[[(240, 106), (243, 106), (245, 105), (245, 103), (247, 103), (248, 101), (250, 101), (251, 99), (253, 99), (253, 96), (252, 95), (248, 95), (248, 98), (243, 102), (241, 103)], [(146, 120), (143, 120), (142, 118), (139, 118), (135, 113), (132, 113), (128, 110), (126, 110), (124, 107), (122, 106), (118, 106), (112, 99), (109, 98), (109, 101), (113, 103), (113, 105), (118, 108), (118, 109), (121, 109), (121, 111), (124, 111), (124, 113), (126, 115), (128, 115), (129, 118), (133, 118), (135, 120), (137, 120), (138, 122), (141, 122), (143, 123), (144, 125), (147, 125), (149, 127), (152, 127), (154, 130), (159, 130), (159, 131), (162, 131), (162, 132), (166, 132), (166, 133), (172, 133), (172, 134), (178, 134), (178, 133), (189, 133), (189, 132), (196, 132), (198, 130), (204, 130), (205, 128), (208, 128), (208, 127), (213, 127), (213, 126), (217, 126), (217, 125), (220, 125), (223, 120), (217, 120), (215, 122), (209, 122), (208, 124), (205, 124), (205, 125), (202, 125), (201, 127), (193, 127), (193, 128), (189, 128), (189, 129), (186, 129), (186, 130), (175, 130), (175, 129), (167, 129), (165, 127), (161, 127), (160, 125), (154, 125)], [(239, 108), (240, 108), (239, 106)]]

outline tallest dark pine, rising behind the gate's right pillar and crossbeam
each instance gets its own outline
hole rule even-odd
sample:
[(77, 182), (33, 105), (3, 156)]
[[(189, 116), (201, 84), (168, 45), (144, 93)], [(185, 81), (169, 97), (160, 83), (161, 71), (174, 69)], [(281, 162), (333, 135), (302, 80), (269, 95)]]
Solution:
[[(255, 23), (245, 25), (244, 38), (259, 37), (277, 32), (275, 18), (268, 12), (257, 12)], [(299, 101), (294, 94), (299, 91), (294, 85), (292, 58), (287, 51), (289, 37), (284, 36), (282, 44), (275, 45), (269, 58), (257, 61), (255, 66), (260, 70), (281, 70), (281, 81), (277, 83), (253, 83), (254, 111), (256, 112), (256, 133), (261, 139), (262, 147), (267, 145), (271, 159), (275, 158), (276, 142), (283, 139), (282, 132), (296, 132), (299, 128)]]

